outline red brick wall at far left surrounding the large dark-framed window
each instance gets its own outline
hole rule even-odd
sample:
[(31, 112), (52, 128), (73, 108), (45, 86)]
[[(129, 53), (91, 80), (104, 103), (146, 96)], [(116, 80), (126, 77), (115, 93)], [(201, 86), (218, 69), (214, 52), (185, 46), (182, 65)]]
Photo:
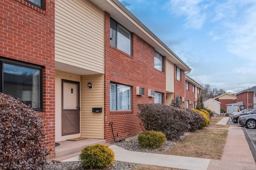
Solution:
[(48, 159), (55, 157), (54, 0), (44, 10), (24, 0), (0, 3), (0, 57), (43, 66), (43, 112)]

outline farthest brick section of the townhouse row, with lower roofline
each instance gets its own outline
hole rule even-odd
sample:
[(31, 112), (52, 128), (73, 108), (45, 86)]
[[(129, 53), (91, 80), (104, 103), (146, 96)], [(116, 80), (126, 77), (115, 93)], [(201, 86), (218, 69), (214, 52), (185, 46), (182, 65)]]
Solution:
[(203, 86), (198, 84), (195, 80), (185, 75), (185, 101), (186, 108), (196, 108), (198, 96), (201, 95)]

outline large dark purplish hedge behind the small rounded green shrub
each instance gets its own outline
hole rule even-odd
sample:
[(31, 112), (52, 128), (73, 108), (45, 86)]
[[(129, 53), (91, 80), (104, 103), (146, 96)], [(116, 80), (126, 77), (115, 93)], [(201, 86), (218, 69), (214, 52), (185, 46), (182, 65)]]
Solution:
[(148, 131), (161, 131), (168, 140), (180, 139), (184, 133), (200, 128), (203, 116), (164, 104), (138, 104), (138, 118)]

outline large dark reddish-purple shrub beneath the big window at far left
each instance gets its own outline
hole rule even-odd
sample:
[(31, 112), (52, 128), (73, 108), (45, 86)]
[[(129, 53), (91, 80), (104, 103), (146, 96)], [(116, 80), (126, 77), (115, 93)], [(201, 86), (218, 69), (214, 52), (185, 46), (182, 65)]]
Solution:
[(0, 108), (0, 169), (44, 169), (48, 151), (36, 111), (2, 93)]

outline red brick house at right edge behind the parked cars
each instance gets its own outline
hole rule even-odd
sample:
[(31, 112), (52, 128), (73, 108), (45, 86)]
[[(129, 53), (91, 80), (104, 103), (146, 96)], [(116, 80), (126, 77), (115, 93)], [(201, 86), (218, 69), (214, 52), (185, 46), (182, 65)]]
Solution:
[(256, 86), (236, 93), (236, 98), (246, 109), (256, 109)]

